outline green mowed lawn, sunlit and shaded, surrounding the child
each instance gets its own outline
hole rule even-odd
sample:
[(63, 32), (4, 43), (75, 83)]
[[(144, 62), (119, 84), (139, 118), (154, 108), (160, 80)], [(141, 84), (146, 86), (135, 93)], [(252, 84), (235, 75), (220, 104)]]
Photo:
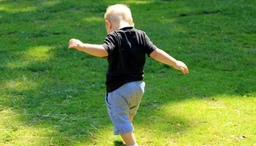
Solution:
[(256, 1), (0, 0), (0, 145), (122, 146), (105, 105), (108, 5), (189, 67), (147, 58), (133, 120), (140, 146), (256, 146)]

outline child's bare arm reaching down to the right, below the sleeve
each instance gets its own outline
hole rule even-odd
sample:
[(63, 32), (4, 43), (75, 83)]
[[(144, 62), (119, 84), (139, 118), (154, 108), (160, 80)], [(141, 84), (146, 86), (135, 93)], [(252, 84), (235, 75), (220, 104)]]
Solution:
[(188, 73), (188, 67), (187, 65), (185, 65), (183, 62), (178, 61), (176, 59), (174, 59), (173, 57), (171, 57), (170, 55), (168, 55), (167, 53), (165, 53), (165, 51), (161, 50), (161, 49), (155, 49), (150, 56), (159, 61), (162, 62), (164, 64), (167, 65), (171, 65), (173, 66), (175, 69), (181, 70), (184, 74)]

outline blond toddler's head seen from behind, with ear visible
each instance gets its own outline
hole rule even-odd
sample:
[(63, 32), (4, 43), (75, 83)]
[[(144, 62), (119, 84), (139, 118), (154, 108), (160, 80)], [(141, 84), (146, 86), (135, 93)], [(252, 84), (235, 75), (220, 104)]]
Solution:
[(110, 5), (107, 8), (104, 18), (108, 33), (117, 30), (118, 28), (116, 27), (119, 26), (121, 22), (134, 26), (131, 10), (124, 4)]

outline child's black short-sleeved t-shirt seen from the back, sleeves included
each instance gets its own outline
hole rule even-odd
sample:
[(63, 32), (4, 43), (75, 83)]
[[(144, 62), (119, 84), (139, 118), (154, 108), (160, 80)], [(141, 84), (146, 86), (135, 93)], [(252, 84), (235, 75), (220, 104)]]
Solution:
[(144, 31), (134, 27), (110, 32), (102, 46), (108, 51), (107, 92), (127, 82), (142, 80), (145, 54), (150, 57), (150, 53), (157, 49)]

